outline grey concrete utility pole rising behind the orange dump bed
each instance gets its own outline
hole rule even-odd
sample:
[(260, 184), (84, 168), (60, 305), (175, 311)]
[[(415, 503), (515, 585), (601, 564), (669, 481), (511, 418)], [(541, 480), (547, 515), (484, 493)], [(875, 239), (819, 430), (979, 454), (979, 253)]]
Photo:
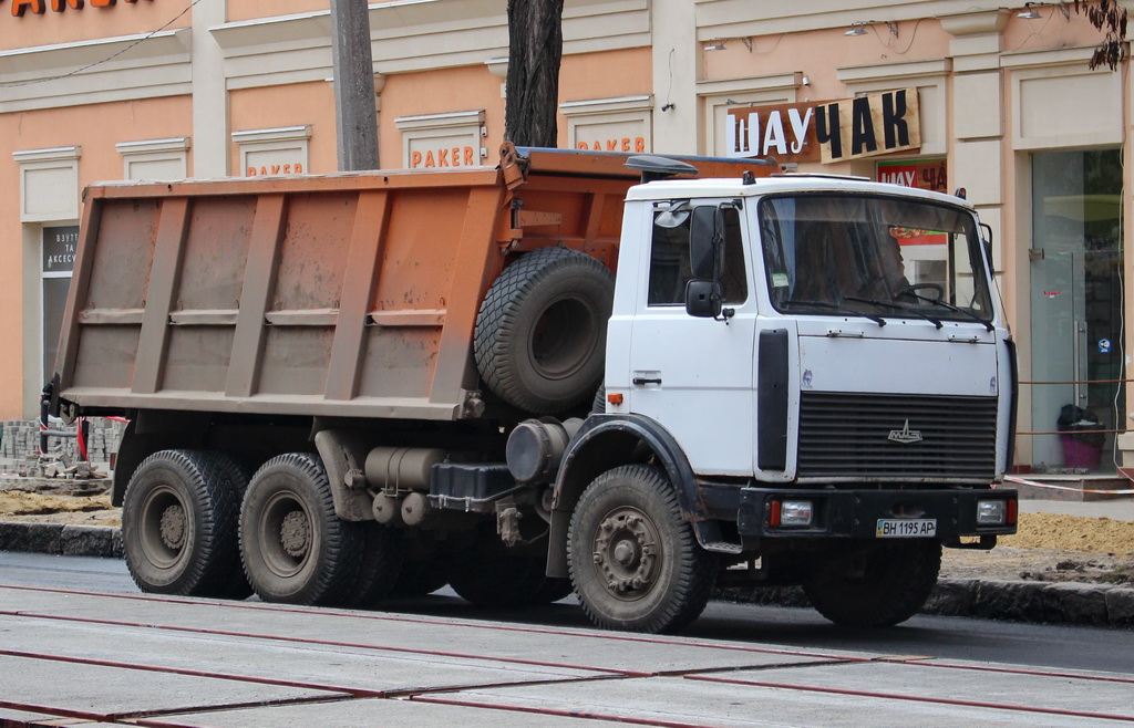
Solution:
[(366, 0), (331, 0), (331, 55), (339, 170), (376, 170), (378, 113)]

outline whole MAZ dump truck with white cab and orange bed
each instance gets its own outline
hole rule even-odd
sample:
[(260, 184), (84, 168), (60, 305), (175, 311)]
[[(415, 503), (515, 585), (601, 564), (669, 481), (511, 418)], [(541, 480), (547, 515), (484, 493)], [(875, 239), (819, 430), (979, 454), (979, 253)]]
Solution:
[(45, 397), (129, 420), (145, 592), (888, 626), (1016, 528), (992, 271), (959, 197), (756, 160), (99, 183)]

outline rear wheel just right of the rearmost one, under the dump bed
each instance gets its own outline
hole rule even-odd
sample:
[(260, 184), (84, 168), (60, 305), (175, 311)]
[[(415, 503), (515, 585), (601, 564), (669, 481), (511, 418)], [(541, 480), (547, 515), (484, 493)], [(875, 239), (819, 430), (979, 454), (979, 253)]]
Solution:
[(363, 532), (335, 514), (322, 462), (306, 453), (264, 463), (240, 508), (240, 553), (268, 602), (331, 605), (359, 573)]

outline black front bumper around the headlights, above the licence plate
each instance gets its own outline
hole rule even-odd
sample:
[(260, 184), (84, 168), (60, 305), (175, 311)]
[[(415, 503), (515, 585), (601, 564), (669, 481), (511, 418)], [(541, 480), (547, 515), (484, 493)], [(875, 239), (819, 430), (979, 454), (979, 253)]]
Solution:
[[(995, 537), (1016, 532), (1015, 517), (1001, 525), (982, 525), (976, 522), (978, 502), (1004, 500), (1006, 508), (1016, 513), (1016, 491), (1013, 489), (772, 489), (741, 488), (736, 509), (736, 526), (742, 537), (759, 539), (781, 538), (877, 538), (879, 520), (932, 519), (937, 522), (937, 538), (945, 543), (956, 543), (960, 537)], [(779, 500), (810, 500), (813, 522), (807, 526), (772, 525), (772, 504)]]

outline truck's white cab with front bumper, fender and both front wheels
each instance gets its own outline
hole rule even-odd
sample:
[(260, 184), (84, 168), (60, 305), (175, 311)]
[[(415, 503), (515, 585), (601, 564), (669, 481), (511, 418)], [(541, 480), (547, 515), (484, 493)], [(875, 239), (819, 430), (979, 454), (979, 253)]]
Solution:
[[(996, 487), (1015, 352), (989, 251), (964, 199), (894, 185), (631, 188), (604, 412), (560, 468), (548, 573), (624, 628), (699, 611), (703, 553), (718, 584), (801, 584), (839, 624), (912, 616), (942, 546), (1015, 532), (1016, 494)], [(641, 464), (610, 470), (632, 445)], [(669, 487), (697, 554), (660, 525)]]

